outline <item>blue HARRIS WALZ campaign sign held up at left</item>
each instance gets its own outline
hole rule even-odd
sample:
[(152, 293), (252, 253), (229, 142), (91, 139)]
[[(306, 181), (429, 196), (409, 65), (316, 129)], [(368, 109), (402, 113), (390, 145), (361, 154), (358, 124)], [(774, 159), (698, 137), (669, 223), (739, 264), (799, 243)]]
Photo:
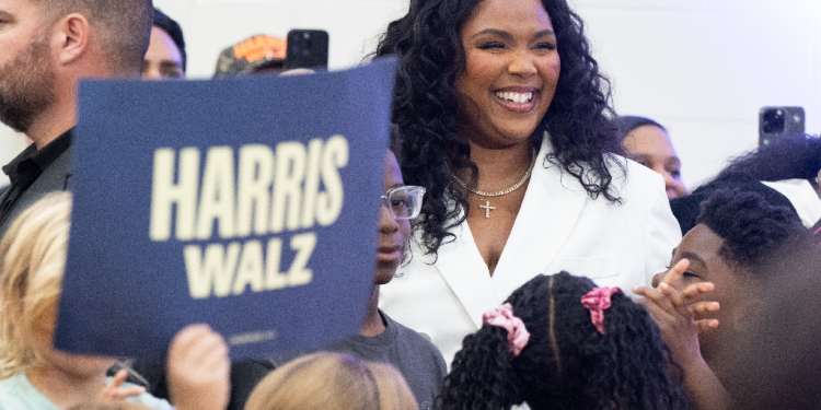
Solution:
[(83, 82), (56, 347), (160, 360), (207, 323), (236, 359), (357, 333), (394, 70)]

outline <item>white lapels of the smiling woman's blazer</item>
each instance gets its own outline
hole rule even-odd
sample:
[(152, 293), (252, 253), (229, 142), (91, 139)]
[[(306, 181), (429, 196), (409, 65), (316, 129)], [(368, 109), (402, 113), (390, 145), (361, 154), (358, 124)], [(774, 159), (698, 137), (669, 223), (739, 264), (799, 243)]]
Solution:
[(547, 269), (589, 198), (576, 178), (545, 161), (552, 150), (546, 137), (494, 276), (467, 223), (452, 229), (456, 239), (439, 248), (436, 267), (477, 329), (484, 312), (499, 306), (512, 291)]

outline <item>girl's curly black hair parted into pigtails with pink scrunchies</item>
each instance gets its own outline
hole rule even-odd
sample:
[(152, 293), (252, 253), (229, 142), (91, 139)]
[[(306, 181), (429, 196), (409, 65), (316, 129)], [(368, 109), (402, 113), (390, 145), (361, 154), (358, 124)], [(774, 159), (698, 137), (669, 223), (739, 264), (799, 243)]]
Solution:
[(581, 296), (595, 284), (567, 272), (539, 276), (508, 298), (530, 341), (510, 359), (508, 332), (484, 325), (462, 342), (437, 398), (442, 410), (686, 408), (670, 372), (671, 355), (647, 311), (624, 293), (611, 296), (604, 333)]

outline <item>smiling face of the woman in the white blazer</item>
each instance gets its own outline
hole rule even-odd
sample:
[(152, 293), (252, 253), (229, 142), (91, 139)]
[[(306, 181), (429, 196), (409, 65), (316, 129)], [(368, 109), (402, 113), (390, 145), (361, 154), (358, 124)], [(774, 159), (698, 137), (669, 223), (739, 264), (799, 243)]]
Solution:
[(527, 142), (556, 91), (556, 35), (539, 0), (485, 0), (462, 27), (456, 79), (463, 137), (488, 147)]

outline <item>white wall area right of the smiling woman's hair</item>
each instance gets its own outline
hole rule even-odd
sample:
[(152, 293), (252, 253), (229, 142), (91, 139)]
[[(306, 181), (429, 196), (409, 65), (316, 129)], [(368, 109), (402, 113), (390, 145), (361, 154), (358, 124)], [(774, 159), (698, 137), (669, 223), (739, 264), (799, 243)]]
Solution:
[(618, 113), (670, 131), (689, 187), (758, 145), (759, 109), (821, 131), (821, 1), (576, 0)]

